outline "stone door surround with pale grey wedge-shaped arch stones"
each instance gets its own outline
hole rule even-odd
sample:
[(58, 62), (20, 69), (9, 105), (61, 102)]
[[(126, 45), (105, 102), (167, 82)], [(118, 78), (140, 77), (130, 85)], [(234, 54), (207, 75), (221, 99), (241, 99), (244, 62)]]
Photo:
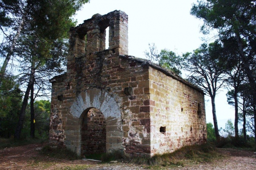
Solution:
[[(106, 125), (106, 152), (113, 150), (123, 150), (123, 123), (119, 103), (121, 98), (117, 95), (109, 94), (108, 91), (92, 88), (81, 92), (72, 103), (69, 113), (69, 120), (65, 129), (64, 144), (75, 151), (77, 155), (82, 155), (85, 151), (82, 148), (82, 124), (88, 121), (88, 111), (97, 108), (104, 116)], [(102, 116), (101, 115), (101, 116)], [(84, 122), (83, 122), (84, 121)], [(87, 122), (88, 123), (88, 122)], [(86, 129), (86, 128), (85, 128)], [(86, 148), (86, 147), (85, 147)]]

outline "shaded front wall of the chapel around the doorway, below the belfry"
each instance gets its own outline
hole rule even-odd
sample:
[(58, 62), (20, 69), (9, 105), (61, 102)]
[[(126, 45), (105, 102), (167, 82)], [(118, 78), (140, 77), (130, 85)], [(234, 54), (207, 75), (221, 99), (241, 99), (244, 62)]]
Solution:
[[(91, 60), (81, 58), (79, 63), (77, 62), (79, 68), (76, 67), (74, 70), (76, 70), (76, 74), (80, 72), (77, 71), (78, 69), (81, 70), (79, 76), (74, 78), (72, 75), (68, 75), (66, 78), (62, 78), (62, 83), (57, 79), (52, 83), (51, 141), (65, 144), (80, 154), (80, 117), (84, 110), (95, 107), (102, 112), (106, 119), (107, 151), (124, 149), (127, 154), (131, 155), (149, 155), (151, 151), (150, 126), (148, 124), (150, 115), (148, 66), (129, 61), (125, 57), (120, 58), (110, 50), (92, 55), (94, 57)], [(131, 95), (124, 93), (126, 87), (132, 88)], [(90, 89), (104, 91), (102, 96), (105, 98), (101, 96), (99, 102), (95, 102), (98, 97), (91, 91), (87, 92)], [(91, 93), (92, 95), (90, 95)], [(58, 100), (58, 96), (63, 96), (62, 101)], [(112, 99), (107, 96), (114, 96), (114, 100), (110, 104), (104, 104), (104, 100)], [(80, 98), (82, 99), (80, 100)], [(113, 112), (110, 109), (113, 110), (115, 103), (121, 113), (122, 124), (118, 126), (116, 121), (111, 122), (113, 116), (109, 116)], [(110, 105), (110, 108), (103, 108), (105, 105)], [(58, 126), (56, 126), (57, 121), (54, 120), (61, 120), (58, 122)], [(59, 138), (61, 140), (58, 140)]]

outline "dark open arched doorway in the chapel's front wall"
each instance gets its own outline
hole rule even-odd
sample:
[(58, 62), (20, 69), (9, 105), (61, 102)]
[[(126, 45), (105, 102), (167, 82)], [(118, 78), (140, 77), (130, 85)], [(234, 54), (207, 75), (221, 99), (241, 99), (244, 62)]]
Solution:
[(97, 108), (86, 109), (81, 121), (81, 156), (106, 153), (106, 121)]

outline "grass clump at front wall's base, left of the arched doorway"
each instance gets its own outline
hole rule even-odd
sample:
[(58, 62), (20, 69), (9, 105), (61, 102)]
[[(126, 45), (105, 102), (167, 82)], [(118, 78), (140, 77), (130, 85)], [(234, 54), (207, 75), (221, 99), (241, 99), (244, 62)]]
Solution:
[(80, 159), (80, 157), (75, 152), (72, 152), (71, 150), (65, 147), (53, 148), (50, 145), (46, 145), (43, 147), (40, 153), (46, 156), (59, 158), (59, 159), (70, 159), (70, 160)]

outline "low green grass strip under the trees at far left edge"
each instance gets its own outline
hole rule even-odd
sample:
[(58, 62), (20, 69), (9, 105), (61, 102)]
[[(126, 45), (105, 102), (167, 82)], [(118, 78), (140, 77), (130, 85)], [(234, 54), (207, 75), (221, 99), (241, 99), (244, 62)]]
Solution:
[(14, 147), (14, 146), (21, 146), (26, 144), (35, 144), (35, 143), (44, 143), (45, 140), (36, 139), (36, 138), (26, 138), (26, 139), (14, 139), (11, 138), (0, 138), (0, 149)]

